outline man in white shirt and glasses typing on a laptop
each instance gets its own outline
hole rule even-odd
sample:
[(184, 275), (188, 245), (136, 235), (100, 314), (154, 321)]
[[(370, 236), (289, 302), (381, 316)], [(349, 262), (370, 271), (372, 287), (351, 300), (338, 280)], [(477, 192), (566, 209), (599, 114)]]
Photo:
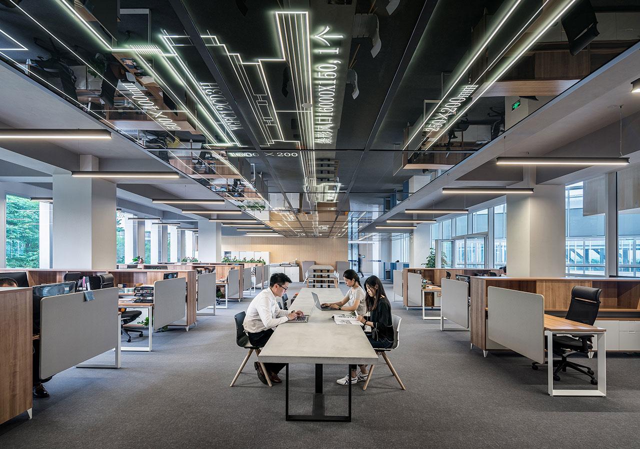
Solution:
[[(244, 317), (244, 331), (249, 336), (249, 341), (253, 346), (264, 347), (269, 341), (269, 337), (273, 334), (273, 328), (289, 320), (303, 316), (302, 311), (282, 310), (278, 306), (276, 298), (282, 297), (289, 288), (291, 279), (284, 273), (274, 273), (269, 278), (269, 288), (265, 288), (259, 294), (255, 295)], [(284, 368), (285, 363), (265, 363), (264, 367), (267, 372), (262, 372), (262, 367), (258, 362), (253, 363), (258, 378), (263, 384), (267, 384), (266, 375), (269, 376), (271, 382), (281, 383), (278, 373)]]

